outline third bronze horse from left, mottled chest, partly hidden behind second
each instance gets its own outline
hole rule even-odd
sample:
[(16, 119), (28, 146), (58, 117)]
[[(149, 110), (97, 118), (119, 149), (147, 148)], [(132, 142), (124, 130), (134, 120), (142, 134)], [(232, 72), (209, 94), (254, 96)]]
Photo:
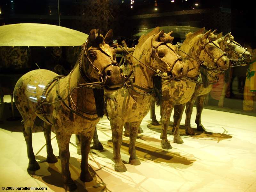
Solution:
[[(162, 123), (161, 139), (162, 148), (164, 149), (172, 148), (167, 139), (167, 129), (173, 108), (173, 141), (174, 143), (183, 143), (179, 133), (180, 121), (185, 105), (195, 91), (200, 70), (221, 71), (228, 68), (228, 58), (226, 53), (214, 41), (216, 38), (214, 38), (211, 30), (204, 33), (204, 28), (193, 34), (188, 33), (178, 52), (189, 66), (187, 78), (180, 81), (165, 80), (162, 82), (163, 102), (160, 106), (160, 113)], [(156, 120), (154, 100), (151, 103), (151, 119), (152, 125), (159, 125)]]

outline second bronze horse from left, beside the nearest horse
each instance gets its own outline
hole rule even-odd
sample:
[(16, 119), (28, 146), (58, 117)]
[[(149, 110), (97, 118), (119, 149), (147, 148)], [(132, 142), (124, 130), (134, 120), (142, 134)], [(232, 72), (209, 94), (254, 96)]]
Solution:
[[(159, 96), (155, 89), (156, 70), (165, 72), (167, 78), (182, 79), (187, 75), (188, 67), (180, 60), (171, 44), (173, 37), (170, 34), (171, 32), (166, 34), (163, 30), (159, 32), (157, 27), (147, 35), (141, 36), (131, 57), (134, 78), (130, 79), (126, 87), (106, 95), (106, 112), (112, 130), (113, 160), (117, 172), (127, 170), (120, 154), (125, 123), (130, 127), (129, 163), (140, 164), (136, 156), (135, 141), (140, 123), (150, 109), (151, 95), (155, 92)], [(99, 142), (98, 136), (93, 138), (94, 142), (95, 140)]]

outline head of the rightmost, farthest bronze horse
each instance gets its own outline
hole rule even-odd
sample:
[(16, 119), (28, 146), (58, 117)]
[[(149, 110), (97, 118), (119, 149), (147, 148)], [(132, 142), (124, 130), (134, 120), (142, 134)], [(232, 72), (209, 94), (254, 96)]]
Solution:
[(234, 41), (234, 36), (231, 35), (231, 32), (225, 36), (222, 36), (222, 33), (217, 36), (216, 42), (220, 45), (222, 51), (227, 52), (231, 63), (246, 65), (245, 63), (251, 61), (251, 53), (247, 51), (247, 48)]

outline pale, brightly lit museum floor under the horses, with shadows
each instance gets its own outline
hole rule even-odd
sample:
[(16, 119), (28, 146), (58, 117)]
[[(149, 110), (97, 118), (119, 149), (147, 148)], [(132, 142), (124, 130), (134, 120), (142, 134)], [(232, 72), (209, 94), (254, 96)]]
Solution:
[[(195, 111), (194, 108), (191, 122), (195, 121)], [(76, 154), (75, 135), (72, 136), (69, 167), (78, 186), (76, 191), (256, 191), (254, 116), (204, 109), (202, 123), (207, 132), (195, 131), (196, 135), (190, 137), (180, 129), (184, 143), (175, 144), (169, 131), (168, 138), (173, 147), (170, 150), (161, 148), (161, 126), (152, 126), (149, 117), (148, 114), (144, 118), (141, 125), (144, 133), (138, 135), (136, 142), (139, 166), (127, 164), (129, 140), (123, 136), (121, 155), (127, 167), (124, 173), (114, 171), (109, 121), (105, 117), (100, 120), (98, 134), (104, 150), (91, 150), (89, 164), (94, 180), (87, 183), (79, 179), (81, 156)], [(183, 115), (182, 125), (184, 119)], [(64, 191), (60, 159), (55, 164), (45, 161), (43, 132), (33, 133), (33, 148), (41, 169), (28, 173), (20, 121), (5, 121), (0, 128), (1, 187), (47, 187), (44, 191)], [(54, 154), (58, 155), (54, 133), (52, 138)]]

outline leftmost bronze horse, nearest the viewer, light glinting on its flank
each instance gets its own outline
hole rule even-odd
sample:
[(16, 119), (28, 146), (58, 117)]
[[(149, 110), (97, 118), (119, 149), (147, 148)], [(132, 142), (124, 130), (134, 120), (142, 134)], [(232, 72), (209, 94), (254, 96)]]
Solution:
[(33, 152), (31, 134), (34, 121), (39, 117), (44, 121), (48, 163), (57, 162), (50, 137), (51, 130), (56, 132), (66, 190), (77, 188), (68, 167), (71, 135), (77, 133), (82, 137), (80, 179), (91, 181), (93, 178), (88, 171), (88, 153), (95, 126), (100, 116), (103, 116), (103, 89), (112, 92), (124, 84), (123, 72), (113, 59), (109, 45), (105, 43), (111, 38), (112, 30), (104, 38), (98, 30), (92, 29), (68, 76), (58, 76), (44, 69), (33, 70), (23, 75), (14, 88), (15, 104), (24, 123), (28, 170), (40, 168)]

